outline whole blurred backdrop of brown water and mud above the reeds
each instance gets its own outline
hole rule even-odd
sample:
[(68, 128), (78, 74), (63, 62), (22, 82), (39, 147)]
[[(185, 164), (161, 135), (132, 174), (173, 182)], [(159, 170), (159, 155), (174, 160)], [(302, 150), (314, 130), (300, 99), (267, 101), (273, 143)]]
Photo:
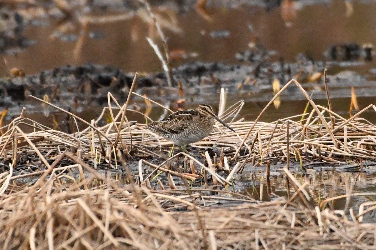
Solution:
[[(13, 85), (12, 88), (7, 85), (2, 91), (4, 98), (0, 104), (9, 108), (8, 119), (19, 115), (21, 108), (27, 106), (28, 115), (41, 115), (48, 125), (53, 124), (53, 119), (64, 120), (64, 114), (31, 100), (28, 97), (31, 93), (49, 98), (64, 109), (71, 108), (86, 120), (96, 118), (107, 105), (107, 91), (115, 92), (124, 101), (129, 90), (129, 83), (118, 88), (112, 88), (109, 83), (102, 88), (99, 80), (92, 81), (100, 85), (95, 91), (93, 87), (80, 90), (83, 75), (92, 74), (90, 79), (93, 79), (103, 71), (83, 70), (77, 75), (71, 69), (99, 64), (111, 67), (116, 72), (112, 77), (117, 79), (120, 79), (117, 69), (130, 79), (134, 72), (141, 73), (140, 79), (149, 80), (140, 82), (136, 91), (176, 109), (202, 102), (218, 105), (219, 85), (229, 91), (228, 105), (245, 100), (241, 115), (252, 120), (276, 90), (292, 78), (303, 84), (315, 102), (327, 105), (323, 78), (327, 68), (334, 110), (350, 116), (352, 94), (358, 101), (356, 108), (374, 103), (376, 96), (375, 10), (376, 1), (361, 0), (148, 3), (2, 0), (0, 73), (4, 77), (3, 86), (9, 84), (9, 78)], [(175, 70), (173, 81), (181, 82), (183, 93), (175, 91), (177, 87), (168, 86), (162, 63), (146, 39), (149, 37), (164, 54), (166, 50), (155, 22), (166, 37), (168, 60)], [(69, 70), (61, 69), (67, 65)], [(59, 72), (58, 79), (53, 78), (56, 72)], [(64, 89), (64, 81), (71, 78), (75, 85), (71, 82)], [(26, 87), (14, 90), (14, 85), (20, 84)], [(57, 84), (59, 87), (54, 89)], [(38, 91), (45, 86), (52, 90)], [(6, 96), (9, 88), (23, 92), (19, 93), (23, 97)], [(89, 92), (90, 100), (85, 96)], [(61, 96), (56, 98), (54, 94)], [(138, 107), (145, 108), (143, 100), (138, 101)], [(291, 86), (262, 120), (302, 114), (306, 103), (302, 93)], [(158, 119), (162, 110), (155, 111), (152, 118)], [(57, 118), (51, 118), (51, 113)], [(374, 122), (373, 113), (364, 115)], [(134, 119), (142, 120), (137, 116)]]

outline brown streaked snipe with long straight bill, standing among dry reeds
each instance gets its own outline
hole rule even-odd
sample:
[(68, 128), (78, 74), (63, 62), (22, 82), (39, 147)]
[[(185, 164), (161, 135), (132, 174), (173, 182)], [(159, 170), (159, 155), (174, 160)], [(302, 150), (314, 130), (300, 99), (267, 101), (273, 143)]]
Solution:
[(180, 151), (186, 151), (185, 146), (204, 139), (212, 132), (215, 120), (235, 132), (230, 126), (214, 114), (211, 106), (201, 104), (195, 109), (185, 109), (174, 112), (161, 121), (147, 124), (147, 128), (162, 137), (169, 139), (179, 146)]

